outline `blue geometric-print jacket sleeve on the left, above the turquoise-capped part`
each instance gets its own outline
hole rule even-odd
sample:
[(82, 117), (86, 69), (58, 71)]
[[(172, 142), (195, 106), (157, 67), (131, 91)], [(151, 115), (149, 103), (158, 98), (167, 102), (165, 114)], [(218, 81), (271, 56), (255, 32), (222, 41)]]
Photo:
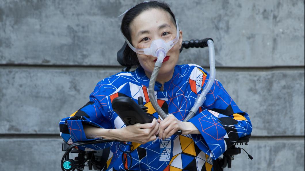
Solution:
[[(97, 83), (94, 91), (90, 94), (90, 101), (81, 107), (76, 112), (72, 113), (70, 117), (65, 117), (59, 122), (60, 136), (64, 142), (72, 144), (81, 141), (90, 141), (95, 139), (87, 138), (84, 133), (84, 124), (89, 124), (99, 128), (111, 128), (111, 122), (109, 117), (103, 110), (105, 103), (101, 103), (106, 98), (105, 91), (101, 82)], [(86, 145), (87, 148), (98, 150), (100, 148), (106, 148), (109, 143), (102, 143), (99, 147), (94, 148), (92, 145)], [(90, 147), (89, 147), (90, 146)]]

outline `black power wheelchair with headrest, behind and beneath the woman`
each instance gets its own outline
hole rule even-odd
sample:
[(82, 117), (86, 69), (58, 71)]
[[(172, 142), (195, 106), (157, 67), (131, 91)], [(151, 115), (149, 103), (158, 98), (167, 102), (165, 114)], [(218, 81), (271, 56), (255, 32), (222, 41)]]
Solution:
[[(207, 47), (207, 40), (210, 38), (206, 38), (203, 40), (186, 40), (182, 42), (182, 47), (180, 49), (180, 53), (183, 50), (183, 48), (204, 48)], [(123, 53), (124, 49), (127, 46), (127, 43), (125, 42), (123, 47), (117, 52), (117, 61), (122, 65), (124, 68), (122, 71), (130, 71), (131, 65), (126, 63), (123, 60)], [(139, 104), (140, 105), (140, 104)], [(241, 153), (240, 147), (236, 147), (236, 145), (248, 145), (249, 138), (251, 135), (247, 135), (245, 137), (240, 138), (235, 145), (231, 145), (224, 153), (223, 157), (218, 158), (215, 160), (215, 170), (223, 170), (225, 167), (231, 168), (231, 162), (234, 160), (234, 155), (238, 155)], [(61, 169), (63, 171), (74, 171), (75, 169), (77, 171), (84, 170), (86, 166), (88, 166), (89, 170), (106, 170), (107, 168), (107, 159), (110, 153), (110, 148), (105, 148), (98, 151), (83, 151), (79, 150), (76, 147), (81, 145), (87, 145), (87, 144), (96, 144), (96, 143), (103, 143), (103, 142), (111, 142), (114, 140), (108, 140), (108, 139), (102, 139), (99, 138), (94, 141), (84, 141), (84, 142), (76, 142), (71, 145), (67, 143), (62, 144), (62, 151), (65, 152), (62, 159), (61, 159)], [(115, 140), (116, 141), (116, 140)], [(121, 141), (118, 141), (121, 142)], [(244, 150), (244, 149), (243, 149)], [(245, 150), (244, 150), (245, 151)], [(246, 151), (245, 151), (246, 152)], [(74, 159), (69, 159), (70, 153), (78, 153), (77, 157)], [(247, 153), (247, 152), (246, 152)], [(253, 159), (251, 155), (247, 153), (249, 159)], [(87, 165), (85, 164), (87, 163)]]

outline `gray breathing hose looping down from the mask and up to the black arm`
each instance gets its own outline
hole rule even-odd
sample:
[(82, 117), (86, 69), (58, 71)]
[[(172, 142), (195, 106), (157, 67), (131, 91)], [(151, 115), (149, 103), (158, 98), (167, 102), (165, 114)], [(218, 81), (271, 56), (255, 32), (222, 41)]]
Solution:
[[(195, 104), (192, 107), (191, 111), (188, 113), (187, 117), (183, 120), (183, 122), (187, 122), (189, 119), (191, 119), (195, 113), (198, 111), (199, 107), (203, 104), (203, 102), (206, 100), (206, 94), (210, 91), (213, 82), (215, 80), (216, 76), (216, 69), (215, 69), (215, 50), (214, 50), (214, 43), (212, 40), (208, 40), (207, 44), (209, 46), (209, 59), (210, 59), (210, 77), (208, 82), (206, 83), (206, 86), (204, 87), (202, 93), (200, 96), (197, 96), (195, 100)], [(162, 54), (163, 55), (163, 54)], [(155, 97), (155, 83), (156, 79), (159, 73), (159, 70), (162, 66), (162, 62), (156, 61), (155, 67), (152, 71), (152, 75), (149, 80), (149, 86), (148, 86), (148, 96), (149, 100), (152, 103), (153, 108), (158, 112), (160, 117), (162, 119), (165, 119), (167, 117), (167, 114), (161, 109), (159, 106), (156, 97)]]

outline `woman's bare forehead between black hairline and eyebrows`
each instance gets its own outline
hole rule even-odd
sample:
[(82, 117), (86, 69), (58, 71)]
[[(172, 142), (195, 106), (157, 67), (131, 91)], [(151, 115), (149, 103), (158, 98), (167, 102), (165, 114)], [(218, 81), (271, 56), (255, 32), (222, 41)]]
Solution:
[(164, 10), (150, 9), (144, 11), (130, 23), (131, 34), (136, 35), (143, 30), (155, 31), (160, 26), (165, 25), (171, 29), (176, 29), (171, 18), (172, 16)]

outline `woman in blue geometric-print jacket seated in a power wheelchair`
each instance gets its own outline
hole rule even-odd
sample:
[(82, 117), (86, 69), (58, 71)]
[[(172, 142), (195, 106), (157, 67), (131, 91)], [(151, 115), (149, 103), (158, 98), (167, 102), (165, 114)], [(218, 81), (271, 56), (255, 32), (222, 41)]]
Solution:
[[(153, 40), (160, 38), (168, 42), (179, 34), (178, 43), (163, 60), (155, 85), (158, 104), (169, 113), (168, 117), (161, 120), (148, 98), (156, 57), (136, 54), (126, 46), (124, 59), (139, 67), (98, 82), (90, 101), (59, 123), (62, 138), (68, 143), (99, 137), (127, 142), (79, 147), (99, 150), (111, 146), (108, 170), (213, 170), (213, 161), (227, 147), (251, 133), (248, 114), (238, 108), (215, 80), (196, 115), (182, 122), (209, 74), (198, 65), (176, 65), (182, 31), (177, 33), (175, 16), (166, 4), (154, 1), (134, 6), (122, 19), (121, 31), (135, 48), (150, 47)], [(111, 107), (117, 96), (135, 101), (142, 96), (148, 113), (156, 119), (126, 127)], [(178, 130), (182, 130), (182, 135), (173, 135)]]

